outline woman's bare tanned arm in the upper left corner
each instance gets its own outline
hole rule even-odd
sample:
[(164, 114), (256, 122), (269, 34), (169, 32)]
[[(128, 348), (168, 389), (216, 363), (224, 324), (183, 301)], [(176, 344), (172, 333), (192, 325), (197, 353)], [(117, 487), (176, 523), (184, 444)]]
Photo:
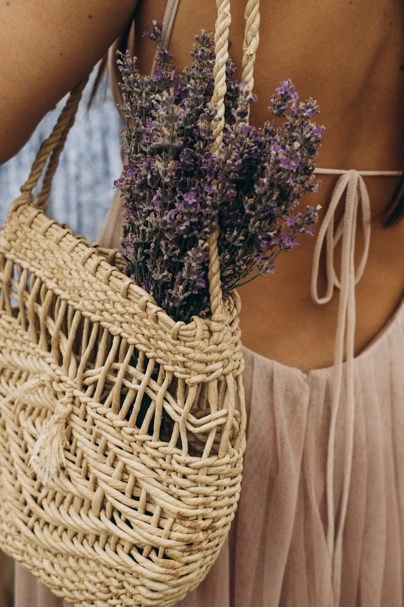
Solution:
[(137, 1), (0, 1), (0, 164), (101, 59)]

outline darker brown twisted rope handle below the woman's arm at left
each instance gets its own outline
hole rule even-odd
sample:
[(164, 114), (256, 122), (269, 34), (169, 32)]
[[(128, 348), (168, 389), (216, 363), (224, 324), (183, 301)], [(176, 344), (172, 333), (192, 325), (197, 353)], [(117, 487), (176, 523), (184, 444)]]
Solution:
[(53, 127), (53, 131), (49, 137), (42, 142), (38, 154), (36, 154), (35, 161), (31, 167), (30, 175), (28, 176), (28, 179), (25, 181), (24, 185), (20, 188), (21, 195), (19, 195), (19, 197), (16, 198), (16, 200), (10, 206), (10, 213), (16, 211), (16, 209), (22, 205), (30, 205), (33, 203), (33, 189), (37, 185), (39, 178), (44, 171), (48, 158), (50, 158), (47, 170), (45, 172), (44, 183), (35, 202), (36, 208), (46, 211), (53, 175), (55, 175), (56, 168), (58, 168), (59, 157), (62, 149), (64, 148), (68, 132), (75, 122), (79, 101), (81, 100), (82, 92), (87, 84), (87, 81), (88, 76), (84, 80), (81, 80), (74, 87), (74, 89), (71, 90), (68, 100), (66, 101), (65, 106), (59, 115), (58, 121)]

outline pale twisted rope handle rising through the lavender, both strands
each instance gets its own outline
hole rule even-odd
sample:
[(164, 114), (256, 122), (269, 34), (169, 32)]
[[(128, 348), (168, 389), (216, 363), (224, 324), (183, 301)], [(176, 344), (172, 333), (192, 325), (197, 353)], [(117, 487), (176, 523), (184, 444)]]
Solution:
[[(223, 141), (223, 129), (225, 126), (225, 95), (226, 85), (226, 64), (228, 61), (228, 35), (231, 23), (230, 0), (216, 0), (217, 20), (214, 32), (216, 59), (213, 67), (214, 89), (212, 101), (217, 106), (216, 117), (220, 120), (212, 123), (214, 143), (212, 151), (216, 153)], [(259, 44), (259, 0), (248, 0), (244, 13), (245, 30), (243, 42), (243, 61), (242, 61), (242, 80), (248, 82), (250, 90), (253, 88), (254, 62)], [(222, 328), (226, 319), (223, 305), (222, 283), (220, 280), (219, 251), (217, 249), (217, 239), (219, 238), (219, 228), (212, 232), (209, 239), (210, 262), (208, 269), (208, 282), (210, 293), (211, 309), (211, 331), (214, 344), (219, 343), (222, 338)]]

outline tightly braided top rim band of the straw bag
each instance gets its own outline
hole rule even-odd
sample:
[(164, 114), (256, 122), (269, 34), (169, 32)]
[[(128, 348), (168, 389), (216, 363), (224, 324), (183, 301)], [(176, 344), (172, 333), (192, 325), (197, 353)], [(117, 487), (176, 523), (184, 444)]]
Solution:
[(194, 316), (187, 324), (174, 322), (122, 273), (115, 263), (118, 249), (89, 242), (34, 206), (22, 205), (9, 213), (0, 232), (0, 254), (34, 274), (91, 322), (121, 334), (148, 358), (152, 353), (151, 358), (167, 370), (172, 367), (177, 377), (184, 373), (187, 383), (242, 373), (238, 294), (224, 302), (226, 322), (215, 344), (211, 319)]

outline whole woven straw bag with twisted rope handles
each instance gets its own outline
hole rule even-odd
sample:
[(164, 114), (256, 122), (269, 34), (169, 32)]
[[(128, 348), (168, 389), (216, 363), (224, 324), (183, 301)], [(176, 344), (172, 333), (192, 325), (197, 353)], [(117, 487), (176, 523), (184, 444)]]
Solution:
[[(251, 86), (258, 4), (246, 10)], [(223, 116), (230, 2), (217, 8), (214, 101)], [(0, 546), (76, 606), (164, 607), (205, 577), (237, 507), (240, 301), (222, 300), (217, 232), (211, 317), (184, 324), (125, 276), (116, 250), (45, 215), (83, 87), (0, 233)]]

